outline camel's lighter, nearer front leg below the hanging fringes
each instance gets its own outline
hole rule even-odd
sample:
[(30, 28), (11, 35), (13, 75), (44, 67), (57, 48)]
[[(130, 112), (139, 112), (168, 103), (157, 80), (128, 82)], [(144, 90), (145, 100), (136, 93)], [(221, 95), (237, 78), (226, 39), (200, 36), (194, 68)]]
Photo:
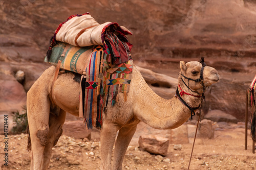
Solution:
[(101, 170), (111, 169), (112, 150), (115, 143), (118, 126), (112, 122), (104, 121), (100, 131)]

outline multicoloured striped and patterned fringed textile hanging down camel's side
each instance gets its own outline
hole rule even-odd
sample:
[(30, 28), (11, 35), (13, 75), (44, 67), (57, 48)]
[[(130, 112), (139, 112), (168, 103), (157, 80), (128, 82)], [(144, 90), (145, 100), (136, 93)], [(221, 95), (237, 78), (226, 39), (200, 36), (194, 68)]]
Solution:
[(81, 78), (80, 117), (85, 118), (88, 129), (101, 128), (102, 112), (109, 102), (115, 105), (118, 92), (123, 92), (126, 101), (133, 69), (129, 56), (129, 61), (116, 65), (112, 64), (111, 56), (103, 52), (102, 46), (93, 50), (87, 75)]

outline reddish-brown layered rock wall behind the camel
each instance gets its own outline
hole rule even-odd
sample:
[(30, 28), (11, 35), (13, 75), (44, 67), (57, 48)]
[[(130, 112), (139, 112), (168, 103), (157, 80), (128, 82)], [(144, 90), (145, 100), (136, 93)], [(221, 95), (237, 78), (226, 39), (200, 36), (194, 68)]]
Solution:
[[(44, 57), (55, 29), (70, 15), (86, 12), (99, 23), (131, 30), (133, 59), (141, 67), (177, 78), (180, 60), (206, 57), (222, 80), (207, 95), (205, 112), (218, 109), (244, 120), (245, 91), (256, 74), (256, 3), (250, 0), (2, 0), (1, 112), (26, 104), (26, 92), (49, 67)], [(22, 84), (14, 79), (19, 69), (25, 71)], [(160, 95), (168, 90), (152, 88), (162, 88)]]

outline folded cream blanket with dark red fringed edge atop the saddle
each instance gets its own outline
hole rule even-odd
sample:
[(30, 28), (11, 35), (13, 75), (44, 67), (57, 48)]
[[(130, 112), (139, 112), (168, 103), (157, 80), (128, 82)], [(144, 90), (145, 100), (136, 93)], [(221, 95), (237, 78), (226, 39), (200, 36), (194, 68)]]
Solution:
[(57, 41), (66, 42), (74, 46), (103, 45), (108, 48), (113, 62), (120, 64), (129, 60), (132, 44), (125, 35), (132, 33), (116, 22), (99, 24), (89, 14), (72, 15), (56, 29), (47, 52), (51, 56), (52, 47)]

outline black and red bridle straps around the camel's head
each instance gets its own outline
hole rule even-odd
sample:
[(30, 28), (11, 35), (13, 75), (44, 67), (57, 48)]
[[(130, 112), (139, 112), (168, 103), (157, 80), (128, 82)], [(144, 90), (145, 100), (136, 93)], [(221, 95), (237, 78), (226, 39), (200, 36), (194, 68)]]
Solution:
[[(196, 92), (196, 93), (198, 93), (199, 95), (193, 95), (193, 94), (186, 93), (186, 92), (184, 92), (184, 91), (181, 89), (180, 85), (178, 85), (178, 87), (181, 89), (181, 92), (179, 92), (178, 87), (177, 87), (177, 89), (176, 89), (176, 96), (177, 96), (178, 99), (181, 101), (181, 103), (182, 103), (183, 105), (185, 105), (185, 106), (190, 110), (191, 119), (193, 119), (193, 116), (196, 115), (195, 110), (199, 109), (199, 110), (200, 110), (200, 113), (201, 113), (202, 103), (203, 103), (203, 101), (205, 100), (205, 96), (204, 96), (205, 85), (204, 85), (204, 83), (203, 83), (203, 80), (204, 80), (203, 74), (204, 74), (204, 67), (206, 66), (206, 63), (204, 62), (204, 57), (201, 57), (200, 63), (202, 64), (202, 68), (201, 68), (201, 71), (200, 71), (200, 78), (199, 78), (199, 79), (196, 79), (196, 80), (195, 80), (195, 79), (191, 79), (191, 78), (188, 78), (188, 77), (184, 76), (183, 74), (181, 74), (181, 76), (183, 76), (185, 79), (187, 79), (188, 85), (185, 83), (185, 81), (184, 81), (182, 78), (181, 78), (181, 80), (182, 80), (182, 82), (185, 84), (185, 86), (186, 86), (190, 91), (193, 91), (193, 90), (191, 90), (191, 89), (189, 88), (189, 81), (194, 81), (196, 84), (199, 83), (199, 82), (201, 82), (202, 89), (203, 89), (203, 93), (200, 94), (200, 93), (198, 93), (197, 91), (193, 91), (193, 92)], [(198, 107), (191, 107), (191, 106), (189, 106), (189, 105), (181, 98), (181, 96), (182, 96), (183, 94), (188, 94), (188, 95), (191, 95), (191, 96), (194, 96), (194, 97), (197, 97), (197, 98), (201, 98), (201, 104), (200, 104)]]

